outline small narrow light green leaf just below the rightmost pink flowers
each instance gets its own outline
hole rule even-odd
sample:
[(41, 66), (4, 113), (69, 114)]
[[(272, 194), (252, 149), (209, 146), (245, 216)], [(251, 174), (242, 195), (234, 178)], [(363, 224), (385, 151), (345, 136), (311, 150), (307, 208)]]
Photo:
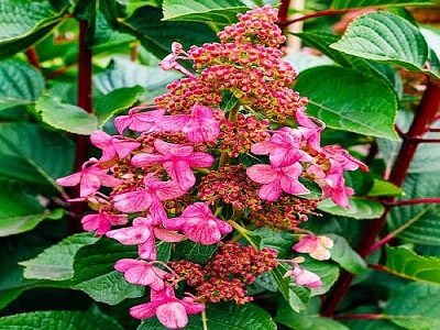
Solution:
[(318, 209), (333, 216), (354, 218), (358, 220), (376, 219), (384, 212), (384, 207), (377, 201), (349, 198), (350, 207), (348, 209), (334, 205), (330, 199), (324, 199), (318, 204)]

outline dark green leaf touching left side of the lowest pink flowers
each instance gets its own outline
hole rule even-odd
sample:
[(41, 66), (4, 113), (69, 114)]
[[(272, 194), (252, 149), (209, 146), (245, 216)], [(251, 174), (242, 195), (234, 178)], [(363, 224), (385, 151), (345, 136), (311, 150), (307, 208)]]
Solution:
[(114, 271), (116, 262), (125, 257), (136, 258), (136, 246), (121, 245), (107, 238), (84, 246), (75, 255), (72, 288), (80, 289), (96, 301), (109, 305), (143, 296), (143, 286), (128, 283), (121, 273)]

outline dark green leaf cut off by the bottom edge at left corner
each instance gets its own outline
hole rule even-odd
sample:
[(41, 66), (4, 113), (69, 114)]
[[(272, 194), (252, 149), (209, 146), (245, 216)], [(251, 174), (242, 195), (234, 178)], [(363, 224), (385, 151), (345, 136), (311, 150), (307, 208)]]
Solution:
[(123, 330), (114, 319), (90, 311), (48, 310), (0, 318), (2, 330)]

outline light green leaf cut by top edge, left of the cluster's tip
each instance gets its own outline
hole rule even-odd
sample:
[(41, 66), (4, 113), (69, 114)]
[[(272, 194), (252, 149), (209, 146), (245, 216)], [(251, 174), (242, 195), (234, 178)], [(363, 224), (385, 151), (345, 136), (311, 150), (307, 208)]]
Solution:
[(237, 22), (237, 14), (249, 10), (239, 0), (164, 0), (163, 9), (165, 21), (209, 22), (218, 25)]

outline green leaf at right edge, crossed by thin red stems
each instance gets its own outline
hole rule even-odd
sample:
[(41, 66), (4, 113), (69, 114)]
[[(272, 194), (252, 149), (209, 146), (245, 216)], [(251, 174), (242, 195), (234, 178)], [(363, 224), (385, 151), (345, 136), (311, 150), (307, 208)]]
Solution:
[[(438, 172), (408, 175), (403, 186), (405, 199), (438, 197)], [(388, 231), (394, 231), (415, 218), (417, 221), (402, 231), (398, 238), (419, 244), (440, 245), (439, 205), (419, 204), (393, 208), (387, 218)]]

